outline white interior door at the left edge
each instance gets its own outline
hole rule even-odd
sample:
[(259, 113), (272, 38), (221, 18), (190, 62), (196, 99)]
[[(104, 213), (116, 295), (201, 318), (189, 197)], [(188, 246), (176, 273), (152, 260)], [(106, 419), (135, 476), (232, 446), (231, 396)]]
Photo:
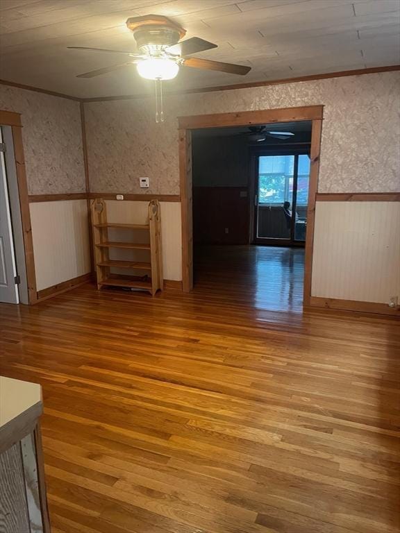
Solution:
[[(3, 142), (0, 128), (0, 143)], [(0, 151), (0, 302), (19, 303), (4, 153)]]

